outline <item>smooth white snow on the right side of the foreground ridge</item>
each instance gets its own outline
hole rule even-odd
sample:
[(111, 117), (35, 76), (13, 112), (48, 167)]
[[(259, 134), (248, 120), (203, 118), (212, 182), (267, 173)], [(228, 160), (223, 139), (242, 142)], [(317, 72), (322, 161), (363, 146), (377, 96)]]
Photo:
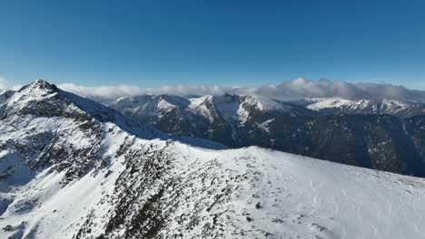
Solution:
[[(247, 176), (233, 187), (232, 199), (215, 213), (230, 217), (223, 223), (270, 232), (275, 238), (421, 238), (424, 225), (425, 181), (303, 158), (262, 148), (210, 151), (177, 145), (186, 160), (178, 172), (203, 171), (216, 161), (211, 174)], [(180, 171), (182, 170), (183, 171)], [(228, 173), (227, 173), (228, 172)], [(229, 183), (229, 181), (231, 183)], [(227, 183), (226, 183), (227, 182)], [(195, 201), (196, 198), (193, 198)], [(407, 205), (405, 202), (410, 202)], [(257, 209), (256, 206), (261, 206)], [(194, 210), (193, 207), (183, 211)], [(178, 213), (177, 213), (178, 215)], [(253, 221), (247, 223), (246, 216)], [(224, 216), (223, 216), (224, 217)], [(196, 232), (188, 232), (188, 237)], [(236, 237), (232, 230), (224, 238)]]

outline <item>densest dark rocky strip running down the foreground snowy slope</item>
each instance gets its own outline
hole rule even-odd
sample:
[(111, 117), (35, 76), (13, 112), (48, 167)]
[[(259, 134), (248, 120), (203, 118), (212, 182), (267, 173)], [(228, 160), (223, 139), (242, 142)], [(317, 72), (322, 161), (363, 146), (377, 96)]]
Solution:
[[(124, 238), (155, 238), (165, 223), (163, 191), (171, 184), (165, 176), (171, 166), (164, 161), (170, 163), (172, 157), (153, 148), (153, 145), (130, 151), (127, 155), (129, 163), (116, 181), (112, 199), (115, 202), (114, 213), (105, 235), (114, 234), (117, 228), (129, 228)], [(165, 181), (164, 184), (160, 183), (160, 178)]]

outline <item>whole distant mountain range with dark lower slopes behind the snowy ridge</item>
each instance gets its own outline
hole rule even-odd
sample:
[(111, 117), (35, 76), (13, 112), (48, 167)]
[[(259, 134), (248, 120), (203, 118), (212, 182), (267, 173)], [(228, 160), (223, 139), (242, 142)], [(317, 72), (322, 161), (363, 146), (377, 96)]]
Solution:
[(164, 132), (232, 148), (261, 146), (425, 176), (425, 104), (420, 102), (141, 95), (109, 106)]

